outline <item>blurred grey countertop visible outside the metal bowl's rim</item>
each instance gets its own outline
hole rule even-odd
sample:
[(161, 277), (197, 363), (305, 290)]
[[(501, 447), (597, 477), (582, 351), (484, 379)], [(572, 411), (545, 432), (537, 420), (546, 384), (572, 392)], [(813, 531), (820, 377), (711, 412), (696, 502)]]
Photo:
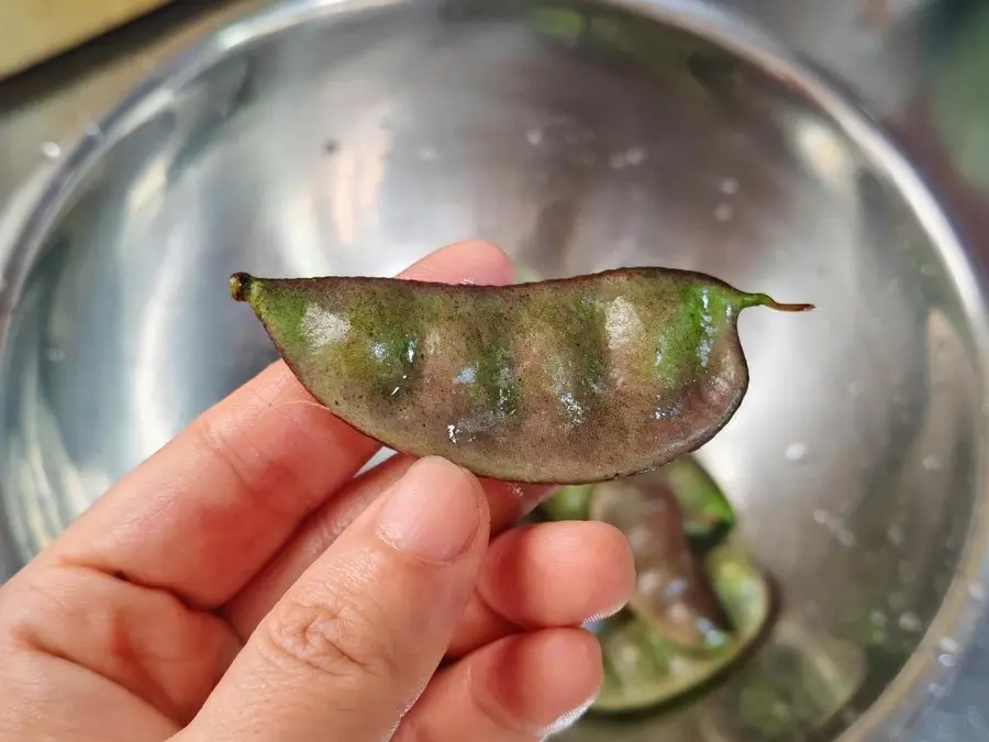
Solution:
[[(824, 68), (893, 134), (989, 267), (989, 3), (721, 0)], [(175, 0), (0, 82), (0, 204), (151, 69), (260, 0)], [(911, 742), (989, 742), (989, 618)]]

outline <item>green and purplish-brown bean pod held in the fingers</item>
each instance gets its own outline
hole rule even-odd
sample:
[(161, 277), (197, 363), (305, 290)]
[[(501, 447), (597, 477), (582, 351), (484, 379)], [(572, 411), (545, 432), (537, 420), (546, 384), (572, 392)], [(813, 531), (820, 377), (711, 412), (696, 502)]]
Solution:
[(542, 484), (612, 479), (699, 447), (748, 386), (738, 313), (810, 309), (662, 268), (497, 288), (235, 274), (231, 292), (357, 430)]

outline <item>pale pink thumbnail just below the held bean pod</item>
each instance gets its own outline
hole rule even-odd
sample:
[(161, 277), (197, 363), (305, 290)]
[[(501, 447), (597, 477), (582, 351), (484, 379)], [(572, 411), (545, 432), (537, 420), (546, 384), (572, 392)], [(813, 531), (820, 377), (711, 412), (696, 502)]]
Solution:
[(463, 554), (479, 524), (470, 476), (443, 458), (415, 462), (392, 486), (381, 508), (381, 538), (431, 562), (451, 562)]

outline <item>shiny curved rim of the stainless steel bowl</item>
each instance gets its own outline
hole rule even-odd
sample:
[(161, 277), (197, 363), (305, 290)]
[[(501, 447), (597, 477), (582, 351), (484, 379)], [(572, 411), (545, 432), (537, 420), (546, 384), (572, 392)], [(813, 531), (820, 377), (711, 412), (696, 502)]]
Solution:
[[(169, 96), (196, 79), (226, 55), (287, 31), (305, 21), (327, 22), (334, 15), (408, 5), (416, 0), (277, 0), (243, 14), (173, 54), (95, 124), (84, 128), (63, 148), (55, 162), (40, 165), (0, 210), (0, 372), (12, 310), (23, 289), (44, 236), (49, 232), (76, 185), (96, 164), (107, 134), (126, 129), (132, 117), (162, 96)], [(437, 1), (437, 0), (433, 0)], [(442, 2), (442, 0), (438, 0)], [(562, 0), (560, 4), (566, 4)], [(785, 82), (804, 101), (813, 104), (856, 149), (894, 185), (908, 203), (919, 226), (937, 246), (946, 276), (957, 290), (978, 368), (979, 394), (989, 388), (989, 306), (987, 292), (975, 264), (938, 200), (905, 154), (893, 144), (881, 125), (840, 90), (825, 74), (797, 52), (777, 41), (770, 32), (736, 11), (701, 0), (580, 0), (580, 4), (614, 8), (644, 20), (671, 26), (735, 55), (760, 71)], [(0, 408), (3, 398), (0, 396)], [(0, 410), (2, 411), (2, 410)], [(970, 593), (978, 585), (989, 591), (989, 481), (985, 451), (989, 441), (989, 407), (977, 418), (976, 497), (965, 545), (955, 565), (952, 582), (941, 605), (900, 672), (882, 693), (844, 729), (837, 742), (860, 742), (884, 733), (905, 731), (920, 716), (934, 684), (947, 683), (958, 668), (936, 661), (942, 636), (952, 636), (964, 652), (969, 649), (984, 599)], [(960, 663), (959, 663), (960, 664)]]

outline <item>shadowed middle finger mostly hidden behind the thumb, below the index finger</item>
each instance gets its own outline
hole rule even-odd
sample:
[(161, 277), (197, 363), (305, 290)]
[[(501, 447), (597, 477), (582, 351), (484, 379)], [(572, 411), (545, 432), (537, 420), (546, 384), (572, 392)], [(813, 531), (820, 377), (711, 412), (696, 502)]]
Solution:
[[(246, 639), (299, 576), (365, 508), (398, 481), (414, 461), (411, 456), (392, 456), (348, 483), (313, 513), (292, 540), (221, 609), (234, 632)], [(488, 499), (492, 532), (518, 520), (521, 512), (535, 505), (546, 491), (545, 487), (522, 487), (487, 479), (481, 480), (481, 486)]]

